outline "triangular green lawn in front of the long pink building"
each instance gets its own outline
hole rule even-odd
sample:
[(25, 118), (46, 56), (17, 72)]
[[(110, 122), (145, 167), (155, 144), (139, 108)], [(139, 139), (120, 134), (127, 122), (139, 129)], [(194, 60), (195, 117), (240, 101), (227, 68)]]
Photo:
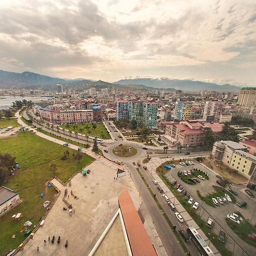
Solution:
[(70, 131), (76, 131), (77, 133), (82, 133), (85, 135), (90, 134), (102, 139), (111, 139), (103, 123), (95, 124), (97, 125), (96, 129), (93, 129), (93, 123), (78, 123), (77, 125), (60, 125), (60, 127)]

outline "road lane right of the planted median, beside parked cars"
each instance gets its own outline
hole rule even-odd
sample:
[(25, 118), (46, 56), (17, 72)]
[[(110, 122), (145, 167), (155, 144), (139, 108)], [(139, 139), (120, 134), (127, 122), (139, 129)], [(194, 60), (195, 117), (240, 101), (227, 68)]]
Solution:
[[(159, 203), (164, 209), (164, 212), (166, 212), (168, 218), (170, 218), (172, 225), (176, 226), (177, 229), (183, 229), (185, 232), (187, 232), (187, 222), (180, 222), (177, 220), (177, 217), (175, 216), (175, 212), (178, 212), (177, 210), (171, 210), (169, 205), (167, 204), (166, 200), (163, 198), (163, 194), (158, 191), (156, 188), (157, 185), (154, 185), (152, 183), (153, 177), (151, 176), (150, 172), (144, 170), (143, 168), (140, 168), (140, 171), (143, 173), (144, 178), (146, 179), (148, 185), (152, 189), (152, 191), (156, 194), (156, 199), (158, 199)], [(182, 213), (181, 213), (182, 214)], [(181, 239), (183, 239), (181, 237)], [(200, 255), (199, 251), (196, 249), (195, 245), (192, 242), (184, 242), (185, 245), (187, 246), (188, 250), (190, 251), (191, 255)]]

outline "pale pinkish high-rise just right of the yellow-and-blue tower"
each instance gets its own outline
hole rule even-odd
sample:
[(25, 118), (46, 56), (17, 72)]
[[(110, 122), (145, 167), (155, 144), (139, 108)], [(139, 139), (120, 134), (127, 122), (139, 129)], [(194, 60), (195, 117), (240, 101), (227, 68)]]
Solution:
[(213, 117), (213, 121), (218, 122), (220, 113), (222, 112), (223, 102), (221, 100), (205, 101), (203, 119)]

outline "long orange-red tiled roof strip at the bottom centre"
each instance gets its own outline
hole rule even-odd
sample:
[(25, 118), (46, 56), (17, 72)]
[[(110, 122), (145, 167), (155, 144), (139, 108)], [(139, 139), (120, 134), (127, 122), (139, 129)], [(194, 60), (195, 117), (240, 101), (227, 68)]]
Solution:
[(133, 255), (157, 256), (127, 189), (120, 193), (118, 202)]

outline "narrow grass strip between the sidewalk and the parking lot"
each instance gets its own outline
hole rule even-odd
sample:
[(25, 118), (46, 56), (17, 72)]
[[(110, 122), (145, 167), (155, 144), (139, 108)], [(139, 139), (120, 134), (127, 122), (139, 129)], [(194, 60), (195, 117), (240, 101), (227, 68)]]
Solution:
[[(171, 162), (171, 161), (170, 161)], [(158, 167), (159, 168), (159, 167)], [(158, 169), (156, 169), (158, 171)], [(162, 171), (162, 172), (161, 172)], [(193, 218), (193, 220), (196, 222), (197, 225), (203, 230), (205, 235), (209, 238), (209, 240), (213, 243), (213, 245), (217, 248), (217, 250), (221, 253), (221, 255), (225, 256), (232, 256), (232, 251), (226, 249), (225, 245), (218, 241), (217, 234), (214, 234), (212, 232), (209, 232), (209, 228), (206, 225), (205, 221), (201, 219), (201, 216), (196, 213), (196, 210), (191, 207), (191, 205), (188, 204), (188, 201), (184, 199), (182, 195), (180, 195), (179, 192), (174, 188), (174, 186), (168, 181), (167, 177), (163, 175), (163, 171), (159, 169), (159, 177), (163, 180), (163, 182), (167, 185), (168, 188), (170, 188), (171, 192), (175, 195), (176, 199), (179, 200), (180, 204), (183, 205), (183, 207), (187, 210), (187, 212), (190, 214), (190, 216)]]

